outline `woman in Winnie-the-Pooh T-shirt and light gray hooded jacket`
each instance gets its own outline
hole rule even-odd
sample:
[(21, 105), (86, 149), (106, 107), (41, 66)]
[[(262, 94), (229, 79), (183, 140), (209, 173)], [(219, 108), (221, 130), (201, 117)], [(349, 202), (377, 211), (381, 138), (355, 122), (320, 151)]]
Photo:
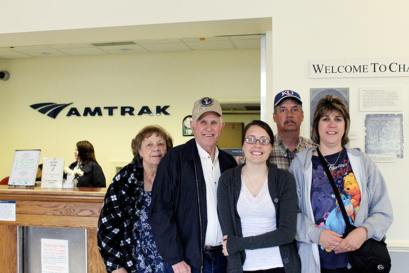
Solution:
[(311, 139), (319, 144), (349, 218), (357, 228), (345, 239), (345, 221), (339, 210), (324, 167), (311, 148), (297, 154), (289, 171), (297, 182), (299, 255), (302, 271), (356, 272), (348, 269), (348, 251), (358, 249), (369, 238), (381, 240), (393, 221), (388, 190), (375, 163), (360, 149), (345, 146), (350, 125), (344, 101), (327, 95), (314, 113)]

